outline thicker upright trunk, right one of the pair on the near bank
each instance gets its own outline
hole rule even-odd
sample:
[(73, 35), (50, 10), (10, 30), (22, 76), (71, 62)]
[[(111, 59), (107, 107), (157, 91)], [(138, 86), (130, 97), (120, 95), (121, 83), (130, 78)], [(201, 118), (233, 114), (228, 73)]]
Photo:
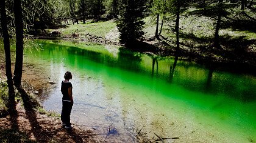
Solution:
[(20, 88), (23, 68), (23, 14), (21, 8), (21, 0), (14, 0), (13, 11), (16, 30), (16, 61), (14, 70), (14, 84), (17, 88)]

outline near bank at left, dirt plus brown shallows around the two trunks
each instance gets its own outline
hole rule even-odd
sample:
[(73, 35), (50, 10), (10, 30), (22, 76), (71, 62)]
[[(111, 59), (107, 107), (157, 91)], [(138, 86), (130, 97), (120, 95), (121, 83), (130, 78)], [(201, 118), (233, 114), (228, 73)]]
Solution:
[[(4, 83), (7, 81), (4, 58), (1, 59), (0, 70), (0, 79)], [(24, 63), (22, 84), (26, 94), (35, 98), (41, 106), (42, 98), (46, 98), (43, 96), (47, 96), (53, 87), (51, 87), (51, 82), (47, 80), (48, 78), (37, 73), (37, 70), (39, 68), (36, 65)], [(15, 91), (15, 94), (14, 112), (9, 113), (7, 111), (0, 117), (0, 140), (3, 139), (2, 141), (7, 142), (97, 142), (100, 140), (99, 135), (91, 128), (75, 125), (73, 130), (66, 130), (61, 126), (60, 117), (58, 117), (60, 115), (54, 111), (46, 111), (43, 107), (27, 109), (24, 107), (26, 103), (20, 97), (20, 93)]]

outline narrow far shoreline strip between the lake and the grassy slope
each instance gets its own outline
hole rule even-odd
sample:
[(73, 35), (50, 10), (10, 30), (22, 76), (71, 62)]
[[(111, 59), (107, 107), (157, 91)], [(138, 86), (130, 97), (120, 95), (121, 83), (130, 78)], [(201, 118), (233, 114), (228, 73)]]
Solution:
[[(79, 42), (81, 44), (85, 42), (93, 42), (96, 44), (111, 44), (111, 45), (118, 45), (120, 47), (124, 46), (116, 42), (105, 42), (105, 41), (97, 41), (97, 39), (92, 38), (62, 38), (62, 37), (56, 37), (56, 36), (38, 36), (35, 37), (35, 39), (42, 39), (42, 40), (63, 40), (63, 41), (75, 41)], [(102, 39), (102, 38), (101, 38)], [(147, 41), (144, 40), (142, 42), (139, 42), (138, 46), (141, 47), (144, 46), (146, 48), (143, 49), (135, 49), (132, 48), (133, 52), (140, 52), (140, 53), (149, 53), (152, 56), (160, 56), (160, 57), (175, 57), (176, 53), (174, 48), (168, 48), (166, 45), (163, 45), (161, 41)], [(220, 53), (221, 50), (218, 50), (213, 47), (208, 47), (208, 49), (215, 51), (217, 53)], [(256, 75), (256, 52), (251, 53), (250, 57), (247, 57), (247, 59), (240, 59), (239, 57), (236, 59), (229, 59), (229, 58), (222, 58), (215, 56), (211, 51), (207, 51), (206, 53), (201, 53), (201, 51), (197, 50), (191, 50), (189, 48), (181, 48), (180, 49), (180, 56), (179, 59), (185, 60), (185, 61), (193, 61), (197, 64), (203, 65), (207, 68), (211, 68), (213, 70), (224, 70), (229, 71), (232, 73), (247, 73), (249, 75)], [(246, 55), (241, 55), (245, 57)]]

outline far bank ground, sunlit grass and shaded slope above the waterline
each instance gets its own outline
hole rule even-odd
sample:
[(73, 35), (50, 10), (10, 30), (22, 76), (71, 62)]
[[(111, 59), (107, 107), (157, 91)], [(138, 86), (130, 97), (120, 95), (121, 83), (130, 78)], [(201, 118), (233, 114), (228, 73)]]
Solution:
[[(256, 71), (256, 33), (246, 30), (220, 30), (221, 48), (215, 48), (213, 41), (214, 29), (212, 19), (205, 17), (183, 18), (180, 27), (179, 58), (195, 61), (213, 67), (234, 68), (231, 70)], [(154, 19), (153, 19), (154, 20)], [(155, 25), (152, 18), (145, 19), (144, 39), (141, 45), (132, 47), (138, 52), (150, 52), (158, 56), (174, 56), (176, 48), (175, 33), (163, 26), (159, 38), (155, 38)], [(186, 22), (187, 21), (187, 22)], [(212, 22), (212, 23), (211, 23)], [(188, 24), (190, 23), (190, 24)], [(192, 22), (193, 23), (193, 22)], [(210, 23), (210, 24), (209, 24)], [(198, 25), (200, 24), (200, 25)], [(184, 28), (185, 27), (185, 28)], [(202, 35), (204, 33), (204, 35)], [(58, 29), (47, 29), (45, 33), (35, 36), (39, 39), (66, 39), (77, 42), (98, 42), (102, 44), (119, 44), (119, 32), (115, 21), (90, 22), (86, 24), (65, 25)], [(143, 47), (143, 48), (141, 48)]]

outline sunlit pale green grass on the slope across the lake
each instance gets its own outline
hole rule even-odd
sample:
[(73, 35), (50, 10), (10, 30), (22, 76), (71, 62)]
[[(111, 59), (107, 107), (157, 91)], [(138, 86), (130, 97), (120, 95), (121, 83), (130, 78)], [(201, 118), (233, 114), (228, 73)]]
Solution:
[[(197, 39), (213, 39), (215, 35), (215, 24), (216, 19), (210, 18), (207, 16), (198, 16), (198, 15), (191, 15), (191, 12), (193, 10), (196, 10), (195, 8), (191, 7), (187, 10), (186, 13), (183, 13), (180, 15), (180, 33), (184, 33), (185, 35), (194, 35), (194, 38)], [(233, 15), (235, 16), (238, 12), (232, 12), (230, 14), (230, 17)], [(249, 13), (249, 12), (247, 12)], [(251, 15), (251, 13), (249, 13)], [(252, 17), (254, 15), (251, 15)], [(167, 38), (167, 40), (170, 42), (170, 44), (175, 45), (176, 41), (176, 33), (174, 32), (174, 26), (175, 26), (175, 16), (173, 15), (167, 15), (166, 19), (163, 24), (162, 29), (162, 36), (163, 38)], [(222, 18), (223, 21), (227, 21), (227, 19)], [(155, 27), (156, 27), (156, 16), (148, 16), (144, 18), (144, 28), (143, 31), (145, 32), (144, 38), (149, 39), (155, 36)], [(162, 19), (159, 19), (159, 28), (158, 32), (160, 32), (160, 25), (161, 25)], [(76, 33), (79, 35), (79, 38), (88, 38), (90, 36), (88, 35), (94, 35), (99, 36), (101, 38), (104, 38), (107, 33), (110, 31), (113, 32), (116, 27), (116, 23), (113, 20), (110, 21), (101, 21), (101, 22), (87, 22), (86, 24), (74, 24), (74, 25), (67, 25), (65, 28), (60, 28), (59, 31), (61, 33), (61, 37), (71, 37), (72, 34)], [(49, 32), (52, 32), (54, 30), (49, 30)], [(236, 38), (239, 36), (245, 36), (246, 39), (256, 39), (256, 33), (251, 32), (249, 30), (233, 30), (231, 27), (226, 27), (224, 22), (221, 23), (221, 30), (219, 31), (220, 36), (229, 35), (230, 38)], [(98, 38), (98, 37), (92, 37), (92, 38)], [(193, 38), (182, 38), (180, 37), (181, 43), (188, 43), (188, 44), (199, 44), (201, 45), (201, 42), (195, 43)], [(116, 39), (118, 41), (118, 39)], [(212, 42), (212, 41), (210, 41)], [(204, 44), (202, 44), (204, 45)]]

